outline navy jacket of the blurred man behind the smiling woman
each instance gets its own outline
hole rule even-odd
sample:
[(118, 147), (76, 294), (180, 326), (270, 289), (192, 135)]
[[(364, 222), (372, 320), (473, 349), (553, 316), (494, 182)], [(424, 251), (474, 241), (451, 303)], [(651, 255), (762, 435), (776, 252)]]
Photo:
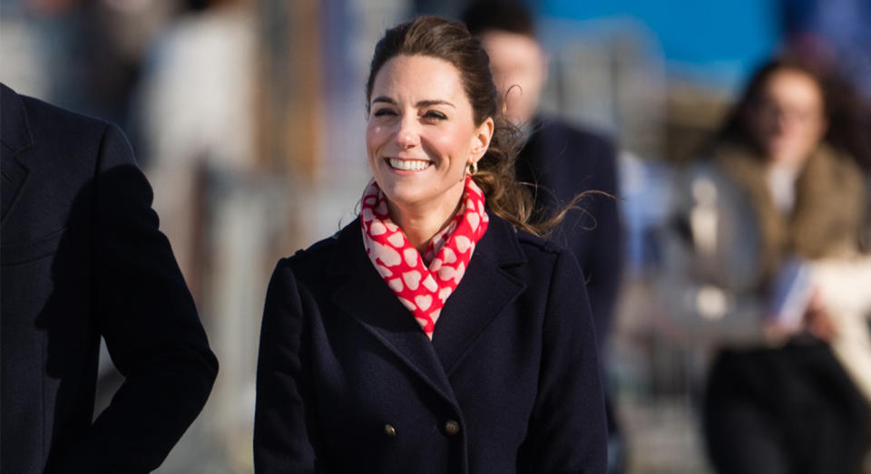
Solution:
[(592, 317), (600, 346), (612, 324), (623, 264), (623, 235), (618, 212), (617, 157), (610, 140), (563, 121), (536, 117), (516, 163), (517, 178), (535, 183), (539, 218), (553, 215), (584, 191), (597, 190), (571, 211), (551, 236), (578, 258), (587, 277)]

